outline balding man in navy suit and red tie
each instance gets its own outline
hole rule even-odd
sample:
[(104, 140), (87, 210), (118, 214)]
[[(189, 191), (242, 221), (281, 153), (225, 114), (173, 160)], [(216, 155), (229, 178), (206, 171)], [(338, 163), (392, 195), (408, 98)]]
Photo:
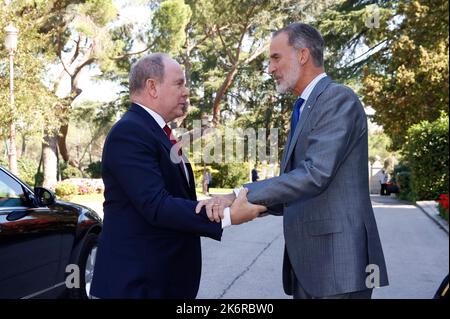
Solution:
[[(130, 72), (132, 105), (106, 138), (102, 157), (104, 225), (91, 287), (93, 298), (195, 298), (200, 236), (265, 210), (242, 196), (217, 223), (195, 214), (192, 168), (166, 123), (185, 115), (189, 91), (181, 66), (151, 54)], [(172, 154), (171, 154), (172, 153)], [(239, 204), (239, 203), (238, 203)]]

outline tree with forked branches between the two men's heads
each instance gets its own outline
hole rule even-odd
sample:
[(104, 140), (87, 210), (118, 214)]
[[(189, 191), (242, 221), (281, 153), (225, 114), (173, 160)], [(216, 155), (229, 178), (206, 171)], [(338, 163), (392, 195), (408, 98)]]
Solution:
[(161, 3), (153, 17), (149, 42), (152, 39), (154, 42), (149, 46), (180, 58), (188, 86), (192, 84), (194, 88), (191, 91), (193, 104), (211, 112), (217, 125), (227, 92), (239, 72), (267, 51), (272, 31), (288, 18), (302, 16), (301, 9), (311, 6), (313, 1), (201, 0), (186, 3), (189, 7), (182, 0)]

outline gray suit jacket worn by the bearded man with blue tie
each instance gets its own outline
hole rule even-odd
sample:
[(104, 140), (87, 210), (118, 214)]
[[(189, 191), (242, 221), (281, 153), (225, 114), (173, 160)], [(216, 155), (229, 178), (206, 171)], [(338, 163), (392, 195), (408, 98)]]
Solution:
[(376, 284), (369, 264), (388, 284), (369, 196), (367, 119), (350, 88), (321, 79), (288, 138), (280, 176), (245, 187), (250, 202), (284, 216), (287, 294), (291, 267), (315, 297), (367, 289), (369, 275)]

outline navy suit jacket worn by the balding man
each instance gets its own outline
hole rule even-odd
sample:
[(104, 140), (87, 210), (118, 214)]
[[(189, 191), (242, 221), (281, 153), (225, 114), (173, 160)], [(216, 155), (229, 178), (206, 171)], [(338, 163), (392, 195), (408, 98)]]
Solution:
[(91, 295), (98, 298), (195, 298), (200, 236), (220, 240), (221, 223), (203, 210), (192, 168), (170, 160), (172, 144), (142, 107), (132, 104), (111, 129), (102, 157), (104, 225)]

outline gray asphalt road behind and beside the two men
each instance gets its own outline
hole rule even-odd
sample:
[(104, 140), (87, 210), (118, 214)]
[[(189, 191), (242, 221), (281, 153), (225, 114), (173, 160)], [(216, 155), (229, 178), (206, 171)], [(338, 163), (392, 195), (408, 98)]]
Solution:
[[(449, 239), (416, 206), (373, 196), (390, 286), (373, 298), (431, 298), (449, 271)], [(202, 239), (197, 298), (285, 299), (282, 217), (268, 216), (224, 230), (221, 242)]]

